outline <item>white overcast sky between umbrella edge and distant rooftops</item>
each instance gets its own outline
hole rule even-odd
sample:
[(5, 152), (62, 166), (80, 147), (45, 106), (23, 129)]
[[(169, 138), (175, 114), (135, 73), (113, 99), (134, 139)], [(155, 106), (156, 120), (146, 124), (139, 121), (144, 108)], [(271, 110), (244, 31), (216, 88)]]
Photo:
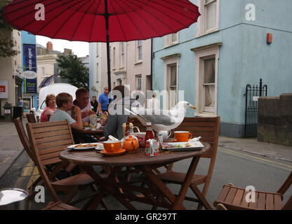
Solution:
[(46, 48), (46, 43), (51, 41), (53, 43), (53, 50), (64, 52), (64, 48), (72, 49), (74, 55), (77, 57), (86, 57), (89, 55), (89, 43), (79, 41), (65, 41), (60, 39), (52, 39), (46, 36), (36, 36), (36, 43), (43, 45)]

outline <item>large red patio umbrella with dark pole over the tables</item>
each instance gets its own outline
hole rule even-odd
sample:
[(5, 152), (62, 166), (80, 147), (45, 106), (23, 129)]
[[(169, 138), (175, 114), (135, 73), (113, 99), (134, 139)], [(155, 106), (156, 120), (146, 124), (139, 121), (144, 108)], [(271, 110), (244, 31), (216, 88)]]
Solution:
[(16, 29), (68, 41), (145, 40), (173, 34), (197, 22), (198, 7), (188, 0), (15, 0), (4, 18)]

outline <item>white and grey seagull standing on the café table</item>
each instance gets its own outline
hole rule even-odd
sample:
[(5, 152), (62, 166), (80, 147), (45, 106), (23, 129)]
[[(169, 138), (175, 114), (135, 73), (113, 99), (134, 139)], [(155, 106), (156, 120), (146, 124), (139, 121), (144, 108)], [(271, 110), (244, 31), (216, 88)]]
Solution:
[(131, 106), (128, 111), (136, 116), (142, 125), (151, 123), (152, 129), (157, 132), (173, 130), (183, 122), (187, 109), (196, 109), (189, 102), (181, 101), (171, 110), (145, 109), (141, 106)]

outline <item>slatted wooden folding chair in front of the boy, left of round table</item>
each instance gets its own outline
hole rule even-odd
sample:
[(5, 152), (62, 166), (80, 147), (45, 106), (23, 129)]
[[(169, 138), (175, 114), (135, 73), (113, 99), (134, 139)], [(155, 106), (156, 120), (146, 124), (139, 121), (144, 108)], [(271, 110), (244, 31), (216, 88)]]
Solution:
[[(27, 123), (27, 132), (31, 143), (34, 162), (39, 169), (41, 179), (44, 181), (48, 192), (55, 202), (60, 201), (55, 190), (67, 193), (62, 202), (68, 203), (76, 195), (78, 190), (83, 190), (90, 186), (97, 190), (95, 182), (88, 174), (77, 174), (60, 181), (53, 181), (56, 174), (67, 165), (67, 162), (60, 160), (60, 152), (67, 146), (74, 144), (71, 127), (67, 120), (47, 122), (47, 123)], [(46, 171), (47, 165), (57, 164), (49, 174)], [(78, 200), (79, 202), (80, 200)], [(71, 202), (74, 204), (77, 202)]]

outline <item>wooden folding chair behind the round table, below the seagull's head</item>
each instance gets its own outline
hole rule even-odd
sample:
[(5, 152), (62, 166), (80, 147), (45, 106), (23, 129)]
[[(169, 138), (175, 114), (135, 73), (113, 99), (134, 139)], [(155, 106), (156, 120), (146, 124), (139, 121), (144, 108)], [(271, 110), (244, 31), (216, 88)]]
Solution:
[[(190, 131), (193, 137), (201, 136), (200, 141), (208, 142), (211, 145), (211, 148), (201, 155), (201, 158), (210, 159), (208, 172), (204, 175), (194, 174), (192, 176), (192, 181), (190, 188), (192, 192), (197, 196), (197, 198), (185, 197), (185, 200), (190, 200), (193, 202), (199, 202), (197, 209), (202, 209), (203, 205), (206, 209), (211, 209), (211, 206), (205, 201), (206, 195), (208, 192), (208, 187), (211, 182), (211, 177), (213, 174), (213, 169), (215, 166), (215, 158), (217, 154), (218, 147), (218, 136), (219, 136), (219, 125), (220, 117), (215, 118), (185, 118), (182, 124), (175, 129), (175, 131)], [(157, 174), (161, 181), (166, 183), (175, 183), (183, 185), (185, 181), (185, 173), (173, 171), (173, 165), (167, 167), (166, 172)], [(199, 191), (197, 186), (204, 184), (202, 192)], [(205, 201), (204, 204), (201, 202)]]

